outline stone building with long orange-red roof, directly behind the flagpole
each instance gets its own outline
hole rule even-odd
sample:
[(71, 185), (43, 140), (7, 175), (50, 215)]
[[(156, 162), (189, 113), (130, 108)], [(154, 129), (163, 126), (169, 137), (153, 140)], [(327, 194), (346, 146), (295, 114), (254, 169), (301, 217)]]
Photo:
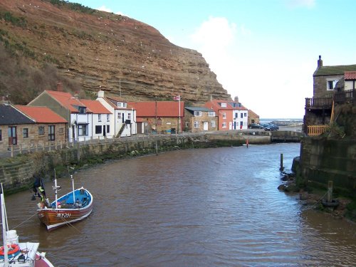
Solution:
[(182, 132), (183, 101), (147, 101), (128, 104), (137, 110), (137, 133)]

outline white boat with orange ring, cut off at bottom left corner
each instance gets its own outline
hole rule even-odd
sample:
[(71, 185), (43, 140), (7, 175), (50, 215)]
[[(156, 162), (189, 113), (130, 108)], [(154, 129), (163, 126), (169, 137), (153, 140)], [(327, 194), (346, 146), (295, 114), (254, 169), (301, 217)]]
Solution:
[(16, 230), (9, 230), (1, 184), (1, 222), (4, 246), (0, 247), (0, 267), (54, 267), (46, 253), (38, 252), (39, 243), (19, 243)]

